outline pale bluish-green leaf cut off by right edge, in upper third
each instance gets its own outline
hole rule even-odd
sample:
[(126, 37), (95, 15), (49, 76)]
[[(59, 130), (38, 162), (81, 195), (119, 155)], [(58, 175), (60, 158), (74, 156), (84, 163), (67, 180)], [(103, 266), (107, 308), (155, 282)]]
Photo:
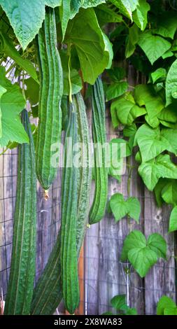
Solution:
[(166, 90), (166, 106), (171, 104), (173, 101), (172, 93), (177, 92), (177, 59), (170, 66), (169, 72), (167, 73), (167, 80), (165, 85)]

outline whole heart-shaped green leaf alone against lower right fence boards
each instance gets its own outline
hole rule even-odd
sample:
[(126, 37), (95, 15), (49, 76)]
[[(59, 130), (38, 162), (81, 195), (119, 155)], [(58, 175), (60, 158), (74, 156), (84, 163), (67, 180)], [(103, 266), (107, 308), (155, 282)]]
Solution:
[(166, 259), (166, 254), (167, 243), (161, 235), (153, 233), (146, 240), (142, 232), (134, 230), (124, 240), (121, 259), (128, 259), (136, 272), (144, 277), (158, 258)]

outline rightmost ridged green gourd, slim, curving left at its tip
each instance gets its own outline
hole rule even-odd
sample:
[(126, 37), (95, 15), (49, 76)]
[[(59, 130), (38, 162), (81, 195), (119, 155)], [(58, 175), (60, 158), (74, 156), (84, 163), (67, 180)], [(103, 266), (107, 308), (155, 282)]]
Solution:
[(90, 224), (98, 223), (104, 217), (108, 197), (105, 113), (104, 88), (99, 77), (92, 86), (92, 138), (94, 143), (95, 190), (94, 200), (89, 214)]

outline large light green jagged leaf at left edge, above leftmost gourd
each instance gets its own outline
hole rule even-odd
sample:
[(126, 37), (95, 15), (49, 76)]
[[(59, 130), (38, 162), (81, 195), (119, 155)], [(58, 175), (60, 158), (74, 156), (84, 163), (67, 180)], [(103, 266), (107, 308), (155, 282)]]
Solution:
[(6, 71), (0, 67), (0, 85), (6, 89), (1, 96), (1, 138), (0, 147), (8, 141), (28, 142), (27, 133), (20, 121), (20, 112), (24, 109), (25, 99), (18, 85), (11, 85), (6, 79)]

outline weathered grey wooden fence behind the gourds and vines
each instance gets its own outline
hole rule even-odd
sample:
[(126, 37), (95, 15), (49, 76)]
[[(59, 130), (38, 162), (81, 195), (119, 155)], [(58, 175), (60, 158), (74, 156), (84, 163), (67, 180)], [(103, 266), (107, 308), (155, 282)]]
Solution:
[[(138, 82), (132, 67), (129, 67), (129, 83)], [(91, 111), (87, 109), (91, 123)], [(111, 127), (110, 111), (106, 111), (106, 129), (108, 140), (120, 136)], [(132, 160), (133, 161), (133, 160)], [(135, 164), (134, 164), (135, 165)], [(0, 288), (6, 296), (8, 275), (10, 270), (10, 254), (13, 237), (13, 211), (15, 206), (15, 185), (17, 172), (17, 150), (6, 151), (0, 156)], [(109, 192), (120, 192), (127, 197), (128, 173), (122, 176), (122, 182), (109, 179)], [(37, 258), (36, 279), (40, 276), (48, 255), (55, 242), (60, 221), (60, 189), (61, 171), (50, 189), (50, 199), (43, 200), (41, 188), (38, 186), (38, 228), (37, 228)], [(93, 189), (92, 189), (93, 191)], [(129, 304), (136, 307), (139, 314), (155, 314), (156, 304), (162, 295), (169, 295), (176, 300), (176, 277), (174, 250), (176, 248), (174, 235), (167, 234), (169, 223), (169, 208), (158, 209), (153, 193), (144, 188), (137, 167), (132, 172), (130, 195), (136, 196), (141, 202), (141, 218), (137, 225), (127, 218), (115, 223), (113, 216), (106, 214), (101, 223), (87, 229), (84, 252), (80, 258), (80, 285), (82, 296), (80, 313), (101, 314), (110, 310), (110, 300), (114, 295), (129, 292)], [(148, 236), (159, 232), (168, 243), (168, 261), (159, 260), (150, 269), (145, 279), (131, 268), (130, 280), (120, 262), (122, 241), (134, 229), (142, 230)], [(83, 272), (84, 271), (84, 272)]]

